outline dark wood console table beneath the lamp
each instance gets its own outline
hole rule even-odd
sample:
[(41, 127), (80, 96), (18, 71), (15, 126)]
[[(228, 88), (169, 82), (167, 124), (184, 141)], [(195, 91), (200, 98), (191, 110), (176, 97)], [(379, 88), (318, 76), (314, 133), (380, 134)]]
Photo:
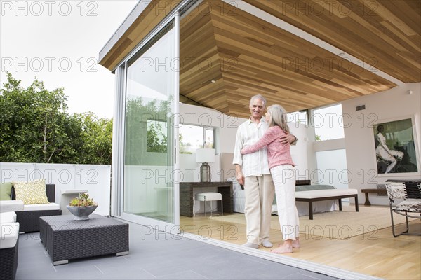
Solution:
[[(217, 192), (222, 195), (224, 213), (232, 213), (232, 182), (181, 182), (180, 183), (180, 215), (193, 216), (193, 190), (198, 188), (216, 187)], [(218, 211), (221, 211), (221, 202), (218, 201)]]

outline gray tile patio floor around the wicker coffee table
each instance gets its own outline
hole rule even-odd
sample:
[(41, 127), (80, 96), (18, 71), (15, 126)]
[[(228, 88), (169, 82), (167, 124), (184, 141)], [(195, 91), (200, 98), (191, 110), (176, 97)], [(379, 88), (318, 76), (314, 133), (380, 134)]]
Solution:
[(336, 279), (129, 224), (128, 255), (70, 260), (56, 266), (39, 241), (38, 232), (22, 234), (16, 279)]

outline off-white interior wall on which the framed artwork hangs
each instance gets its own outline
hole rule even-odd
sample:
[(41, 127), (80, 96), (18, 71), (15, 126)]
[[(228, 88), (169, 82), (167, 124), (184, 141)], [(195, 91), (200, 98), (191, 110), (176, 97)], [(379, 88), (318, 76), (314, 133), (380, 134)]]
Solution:
[[(412, 90), (412, 94), (408, 93)], [(365, 105), (366, 109), (356, 111), (355, 107)], [(394, 118), (403, 118), (415, 115), (415, 145), (418, 161), (420, 154), (420, 114), (421, 114), (421, 83), (408, 83), (394, 87), (392, 90), (370, 94), (342, 102), (342, 113), (349, 119), (345, 123), (345, 147), (347, 150), (347, 167), (349, 174), (349, 188), (376, 188), (377, 183), (387, 179), (420, 179), (417, 175), (381, 174), (377, 175), (375, 162), (375, 148), (373, 142), (373, 123), (378, 120), (388, 121)], [(420, 162), (418, 162), (420, 168)], [(361, 192), (359, 192), (361, 193)], [(359, 195), (363, 202), (363, 195)], [(388, 204), (387, 197), (370, 195), (372, 204)]]

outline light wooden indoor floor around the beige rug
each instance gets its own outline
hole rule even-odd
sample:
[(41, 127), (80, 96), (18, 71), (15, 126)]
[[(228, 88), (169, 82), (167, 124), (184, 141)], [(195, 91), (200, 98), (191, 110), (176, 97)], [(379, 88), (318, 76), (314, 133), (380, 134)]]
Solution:
[[(192, 233), (206, 238), (239, 245), (246, 242), (246, 225), (215, 221), (204, 216), (180, 216), (180, 225), (182, 229), (193, 229)], [(400, 228), (403, 229), (403, 224), (402, 227), (399, 225)], [(421, 231), (420, 220), (410, 222), (410, 231)], [(280, 230), (271, 230), (270, 235), (274, 246), (281, 244)], [(392, 228), (384, 228), (375, 235), (366, 233), (345, 240), (304, 234), (300, 235), (300, 241), (301, 248), (288, 256), (382, 279), (421, 279), (420, 236), (395, 238)], [(270, 249), (260, 246), (259, 250), (269, 252)]]

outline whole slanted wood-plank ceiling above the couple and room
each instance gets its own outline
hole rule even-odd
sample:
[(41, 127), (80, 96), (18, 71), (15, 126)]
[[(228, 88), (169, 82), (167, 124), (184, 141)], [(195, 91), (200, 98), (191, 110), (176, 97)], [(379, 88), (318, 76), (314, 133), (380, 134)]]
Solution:
[(244, 2), (345, 54), (205, 0), (180, 22), (181, 102), (247, 118), (255, 94), (300, 111), (421, 81), (420, 1)]

